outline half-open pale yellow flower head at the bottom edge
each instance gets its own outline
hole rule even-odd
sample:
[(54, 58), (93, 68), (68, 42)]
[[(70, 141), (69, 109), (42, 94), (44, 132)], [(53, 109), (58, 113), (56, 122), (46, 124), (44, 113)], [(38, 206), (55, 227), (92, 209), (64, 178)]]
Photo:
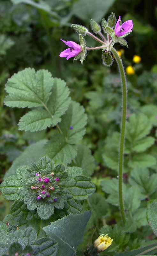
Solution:
[(100, 235), (94, 242), (94, 247), (97, 248), (98, 252), (102, 252), (108, 248), (112, 244), (113, 239), (111, 237), (108, 237), (108, 234), (106, 234), (104, 237), (104, 234)]

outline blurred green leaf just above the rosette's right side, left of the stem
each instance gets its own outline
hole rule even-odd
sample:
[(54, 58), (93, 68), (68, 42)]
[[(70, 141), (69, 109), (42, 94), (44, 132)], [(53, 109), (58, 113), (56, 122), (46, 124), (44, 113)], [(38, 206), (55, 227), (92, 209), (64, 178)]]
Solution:
[(83, 169), (83, 174), (90, 177), (94, 171), (94, 157), (91, 155), (91, 151), (85, 145), (78, 145), (78, 153), (71, 163), (71, 166), (79, 166)]

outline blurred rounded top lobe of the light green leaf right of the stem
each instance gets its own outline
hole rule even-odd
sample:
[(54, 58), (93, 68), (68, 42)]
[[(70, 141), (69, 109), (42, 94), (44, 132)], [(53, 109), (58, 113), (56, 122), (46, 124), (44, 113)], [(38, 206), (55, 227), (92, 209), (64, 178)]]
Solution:
[(126, 139), (130, 142), (144, 138), (151, 130), (152, 124), (146, 115), (132, 114), (126, 124)]

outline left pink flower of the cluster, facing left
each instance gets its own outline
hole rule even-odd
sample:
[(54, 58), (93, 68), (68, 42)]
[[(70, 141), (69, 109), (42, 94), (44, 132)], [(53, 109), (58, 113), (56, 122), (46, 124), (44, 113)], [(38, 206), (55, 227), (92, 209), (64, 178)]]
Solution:
[[(62, 39), (61, 39), (62, 40)], [(79, 52), (82, 51), (82, 47), (73, 42), (73, 41), (64, 41), (62, 40), (66, 45), (68, 45), (70, 48), (64, 50), (63, 52), (60, 53), (60, 57), (67, 57), (66, 59), (68, 60), (71, 57), (75, 57), (79, 54)]]

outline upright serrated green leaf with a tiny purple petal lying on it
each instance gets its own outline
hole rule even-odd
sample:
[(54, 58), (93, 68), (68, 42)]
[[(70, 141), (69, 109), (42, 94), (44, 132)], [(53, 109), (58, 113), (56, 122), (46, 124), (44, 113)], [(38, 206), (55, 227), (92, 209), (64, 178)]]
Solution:
[(59, 124), (68, 143), (75, 144), (82, 139), (85, 134), (84, 127), (86, 122), (87, 115), (85, 114), (85, 109), (78, 102), (72, 101)]

